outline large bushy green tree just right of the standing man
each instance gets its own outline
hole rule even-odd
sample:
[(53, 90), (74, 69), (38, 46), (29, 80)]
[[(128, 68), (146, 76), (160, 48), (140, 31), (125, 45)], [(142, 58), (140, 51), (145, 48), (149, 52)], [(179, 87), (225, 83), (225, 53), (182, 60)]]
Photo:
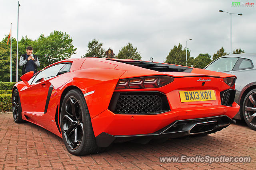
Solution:
[(68, 59), (75, 54), (76, 48), (74, 48), (72, 41), (67, 33), (61, 31), (51, 32), (47, 37), (41, 34), (34, 42), (33, 47), (33, 52), (38, 55), (40, 68)]

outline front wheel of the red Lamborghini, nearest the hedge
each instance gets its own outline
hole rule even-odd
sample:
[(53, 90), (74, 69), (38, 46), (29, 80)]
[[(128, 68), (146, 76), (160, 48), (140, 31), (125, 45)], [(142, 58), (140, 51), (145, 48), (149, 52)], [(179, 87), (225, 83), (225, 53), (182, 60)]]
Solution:
[(12, 115), (15, 123), (24, 123), (21, 115), (20, 95), (18, 89), (12, 93)]

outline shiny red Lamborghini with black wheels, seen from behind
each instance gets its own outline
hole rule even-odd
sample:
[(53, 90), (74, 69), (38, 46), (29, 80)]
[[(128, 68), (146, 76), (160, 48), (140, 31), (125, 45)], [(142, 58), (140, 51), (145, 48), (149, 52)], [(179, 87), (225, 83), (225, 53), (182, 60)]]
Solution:
[(62, 137), (75, 155), (116, 142), (207, 135), (234, 123), (239, 110), (235, 76), (173, 64), (67, 59), (21, 79), (12, 91), (14, 121)]

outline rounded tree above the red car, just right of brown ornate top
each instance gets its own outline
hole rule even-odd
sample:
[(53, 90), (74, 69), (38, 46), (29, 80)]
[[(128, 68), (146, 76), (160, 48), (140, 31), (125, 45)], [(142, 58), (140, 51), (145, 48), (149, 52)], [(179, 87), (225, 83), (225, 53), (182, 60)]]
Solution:
[(133, 47), (132, 43), (128, 43), (126, 46), (122, 47), (116, 57), (118, 59), (141, 60), (140, 53), (137, 52), (137, 47)]

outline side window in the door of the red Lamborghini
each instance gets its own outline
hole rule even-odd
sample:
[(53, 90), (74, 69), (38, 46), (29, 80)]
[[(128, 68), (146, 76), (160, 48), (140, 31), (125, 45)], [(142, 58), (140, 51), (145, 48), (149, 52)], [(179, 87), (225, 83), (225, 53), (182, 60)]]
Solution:
[(38, 82), (42, 82), (44, 80), (48, 80), (49, 78), (55, 77), (64, 65), (65, 63), (56, 64), (46, 68), (45, 70), (42, 70), (36, 75), (31, 84), (36, 84)]

